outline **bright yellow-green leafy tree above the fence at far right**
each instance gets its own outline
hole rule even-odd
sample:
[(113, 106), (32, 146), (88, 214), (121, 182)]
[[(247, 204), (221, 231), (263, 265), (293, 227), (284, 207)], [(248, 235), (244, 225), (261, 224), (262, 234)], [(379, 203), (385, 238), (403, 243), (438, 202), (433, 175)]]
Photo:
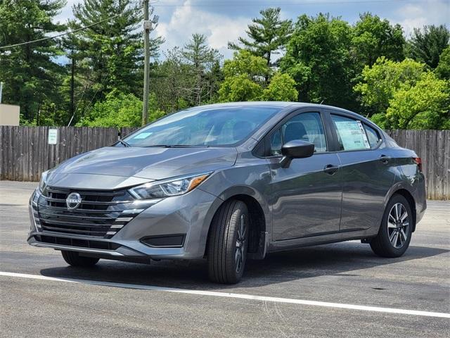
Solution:
[(394, 93), (383, 121), (393, 129), (450, 129), (450, 85), (426, 72), (413, 86)]

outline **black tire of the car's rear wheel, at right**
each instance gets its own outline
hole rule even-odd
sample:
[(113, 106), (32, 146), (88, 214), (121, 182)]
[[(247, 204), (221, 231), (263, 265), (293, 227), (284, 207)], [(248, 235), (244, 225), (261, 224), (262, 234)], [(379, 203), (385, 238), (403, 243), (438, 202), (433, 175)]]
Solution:
[[(403, 207), (398, 207), (399, 204)], [(403, 212), (406, 211), (407, 215), (404, 221), (400, 222), (394, 220), (393, 217), (390, 217), (391, 211), (395, 213), (394, 206), (399, 208), (397, 210), (400, 210), (399, 213), (401, 213), (401, 215), (404, 215)], [(390, 225), (388, 225), (388, 220)], [(407, 227), (404, 226), (406, 223), (408, 223)], [(393, 225), (396, 227), (393, 227)], [(411, 242), (413, 226), (413, 213), (409, 202), (404, 196), (395, 194), (392, 196), (389, 203), (387, 203), (377, 236), (371, 241), (373, 252), (381, 257), (400, 257), (405, 253), (406, 249), (408, 249), (409, 243)], [(401, 230), (403, 230), (403, 232), (401, 232)], [(398, 237), (396, 237), (396, 235)], [(404, 239), (404, 235), (406, 235), (406, 239)], [(401, 242), (402, 240), (403, 243)]]

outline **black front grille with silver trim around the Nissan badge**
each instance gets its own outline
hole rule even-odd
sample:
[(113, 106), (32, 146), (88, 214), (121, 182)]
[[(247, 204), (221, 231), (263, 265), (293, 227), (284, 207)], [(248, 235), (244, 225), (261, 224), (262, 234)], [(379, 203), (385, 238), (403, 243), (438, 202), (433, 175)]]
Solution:
[[(65, 199), (77, 192), (82, 202), (68, 210)], [(77, 190), (46, 187), (37, 201), (37, 218), (41, 230), (74, 236), (110, 238), (143, 211), (126, 189), (115, 191)]]

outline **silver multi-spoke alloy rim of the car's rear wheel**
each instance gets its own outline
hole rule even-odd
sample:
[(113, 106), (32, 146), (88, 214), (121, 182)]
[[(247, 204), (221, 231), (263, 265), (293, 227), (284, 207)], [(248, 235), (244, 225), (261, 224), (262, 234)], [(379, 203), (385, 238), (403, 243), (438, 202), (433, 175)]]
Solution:
[(391, 245), (395, 249), (400, 249), (408, 239), (409, 215), (406, 208), (401, 203), (392, 206), (387, 218), (387, 234)]

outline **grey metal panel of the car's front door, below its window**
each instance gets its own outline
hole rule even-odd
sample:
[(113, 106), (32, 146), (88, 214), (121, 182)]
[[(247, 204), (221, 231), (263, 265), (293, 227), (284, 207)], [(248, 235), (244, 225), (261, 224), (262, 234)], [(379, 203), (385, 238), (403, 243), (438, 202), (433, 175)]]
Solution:
[[(289, 168), (281, 168), (279, 158), (269, 161), (274, 240), (338, 232), (342, 199), (338, 156), (316, 154), (310, 158), (296, 158)], [(326, 173), (327, 165), (339, 169), (335, 173)]]

